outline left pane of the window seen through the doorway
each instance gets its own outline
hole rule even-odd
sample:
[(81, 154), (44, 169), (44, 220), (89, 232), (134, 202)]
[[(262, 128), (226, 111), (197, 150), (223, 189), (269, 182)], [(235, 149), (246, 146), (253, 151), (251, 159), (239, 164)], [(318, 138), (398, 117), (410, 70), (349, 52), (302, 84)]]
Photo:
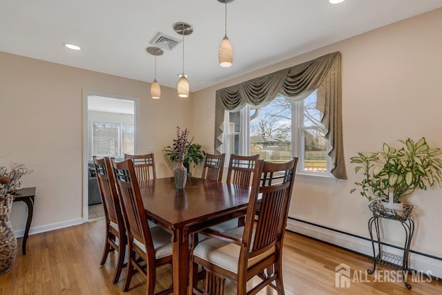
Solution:
[(93, 155), (118, 157), (119, 124), (93, 123)]

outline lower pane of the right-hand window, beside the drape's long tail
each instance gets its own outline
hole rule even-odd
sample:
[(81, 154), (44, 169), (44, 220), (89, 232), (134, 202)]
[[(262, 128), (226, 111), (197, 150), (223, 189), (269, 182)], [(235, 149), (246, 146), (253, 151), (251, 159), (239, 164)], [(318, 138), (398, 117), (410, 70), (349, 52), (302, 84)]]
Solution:
[(327, 146), (323, 130), (307, 129), (304, 137), (304, 170), (327, 171)]

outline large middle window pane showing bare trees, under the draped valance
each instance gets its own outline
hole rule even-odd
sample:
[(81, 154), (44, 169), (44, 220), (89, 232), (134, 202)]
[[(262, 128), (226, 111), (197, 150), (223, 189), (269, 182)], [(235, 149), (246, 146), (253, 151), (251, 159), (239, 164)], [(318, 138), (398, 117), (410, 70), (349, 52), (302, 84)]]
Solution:
[(263, 160), (291, 158), (291, 102), (278, 96), (257, 113), (251, 111), (250, 154)]

